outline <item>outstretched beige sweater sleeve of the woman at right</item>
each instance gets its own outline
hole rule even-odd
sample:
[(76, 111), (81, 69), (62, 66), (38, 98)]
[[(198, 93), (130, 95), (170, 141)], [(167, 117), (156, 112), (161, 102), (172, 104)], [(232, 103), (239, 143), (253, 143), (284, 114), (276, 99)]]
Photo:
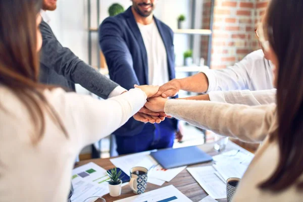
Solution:
[(261, 142), (276, 129), (275, 105), (249, 107), (196, 100), (168, 100), (164, 112), (197, 127), (249, 142)]

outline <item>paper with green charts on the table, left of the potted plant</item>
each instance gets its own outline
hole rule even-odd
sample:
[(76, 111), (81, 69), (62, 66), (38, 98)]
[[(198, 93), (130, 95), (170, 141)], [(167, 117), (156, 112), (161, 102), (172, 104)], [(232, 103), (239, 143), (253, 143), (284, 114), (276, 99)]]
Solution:
[[(72, 202), (83, 202), (90, 196), (103, 196), (109, 193), (106, 170), (94, 163), (88, 163), (73, 170)], [(88, 200), (93, 202), (96, 199)], [(86, 202), (86, 201), (85, 201)]]

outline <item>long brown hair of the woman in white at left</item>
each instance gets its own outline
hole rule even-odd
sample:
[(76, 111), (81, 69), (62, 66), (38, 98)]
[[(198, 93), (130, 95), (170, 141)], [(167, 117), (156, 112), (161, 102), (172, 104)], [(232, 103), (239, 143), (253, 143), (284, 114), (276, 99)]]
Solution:
[[(26, 106), (38, 131), (31, 137), (34, 143), (44, 133), (43, 112), (49, 113), (67, 136), (59, 116), (42, 94), (51, 87), (38, 83), (36, 18), (41, 6), (42, 0), (0, 0), (0, 84), (11, 89)], [(6, 110), (1, 103), (0, 107)]]

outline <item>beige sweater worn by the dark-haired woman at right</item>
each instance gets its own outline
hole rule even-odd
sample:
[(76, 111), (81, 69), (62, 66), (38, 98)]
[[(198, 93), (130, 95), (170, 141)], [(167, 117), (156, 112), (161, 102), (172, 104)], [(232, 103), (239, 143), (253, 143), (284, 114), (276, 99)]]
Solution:
[[(246, 170), (233, 201), (303, 201), (303, 192), (291, 186), (279, 193), (263, 191), (257, 186), (268, 179), (279, 161), (277, 142), (268, 134), (277, 128), (275, 104), (249, 107), (197, 100), (171, 99), (165, 113), (197, 127), (248, 142), (263, 142)], [(300, 180), (303, 176), (300, 177)]]

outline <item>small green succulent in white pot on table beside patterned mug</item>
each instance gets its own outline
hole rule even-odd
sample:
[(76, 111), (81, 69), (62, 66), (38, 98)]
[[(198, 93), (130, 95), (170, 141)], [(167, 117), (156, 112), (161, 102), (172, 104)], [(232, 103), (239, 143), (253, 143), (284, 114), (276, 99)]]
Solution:
[(122, 171), (117, 172), (117, 168), (113, 168), (110, 171), (107, 171), (107, 174), (110, 176), (109, 183), (109, 189), (110, 189), (110, 195), (113, 197), (121, 195), (121, 188), (122, 188), (122, 178), (121, 176)]

